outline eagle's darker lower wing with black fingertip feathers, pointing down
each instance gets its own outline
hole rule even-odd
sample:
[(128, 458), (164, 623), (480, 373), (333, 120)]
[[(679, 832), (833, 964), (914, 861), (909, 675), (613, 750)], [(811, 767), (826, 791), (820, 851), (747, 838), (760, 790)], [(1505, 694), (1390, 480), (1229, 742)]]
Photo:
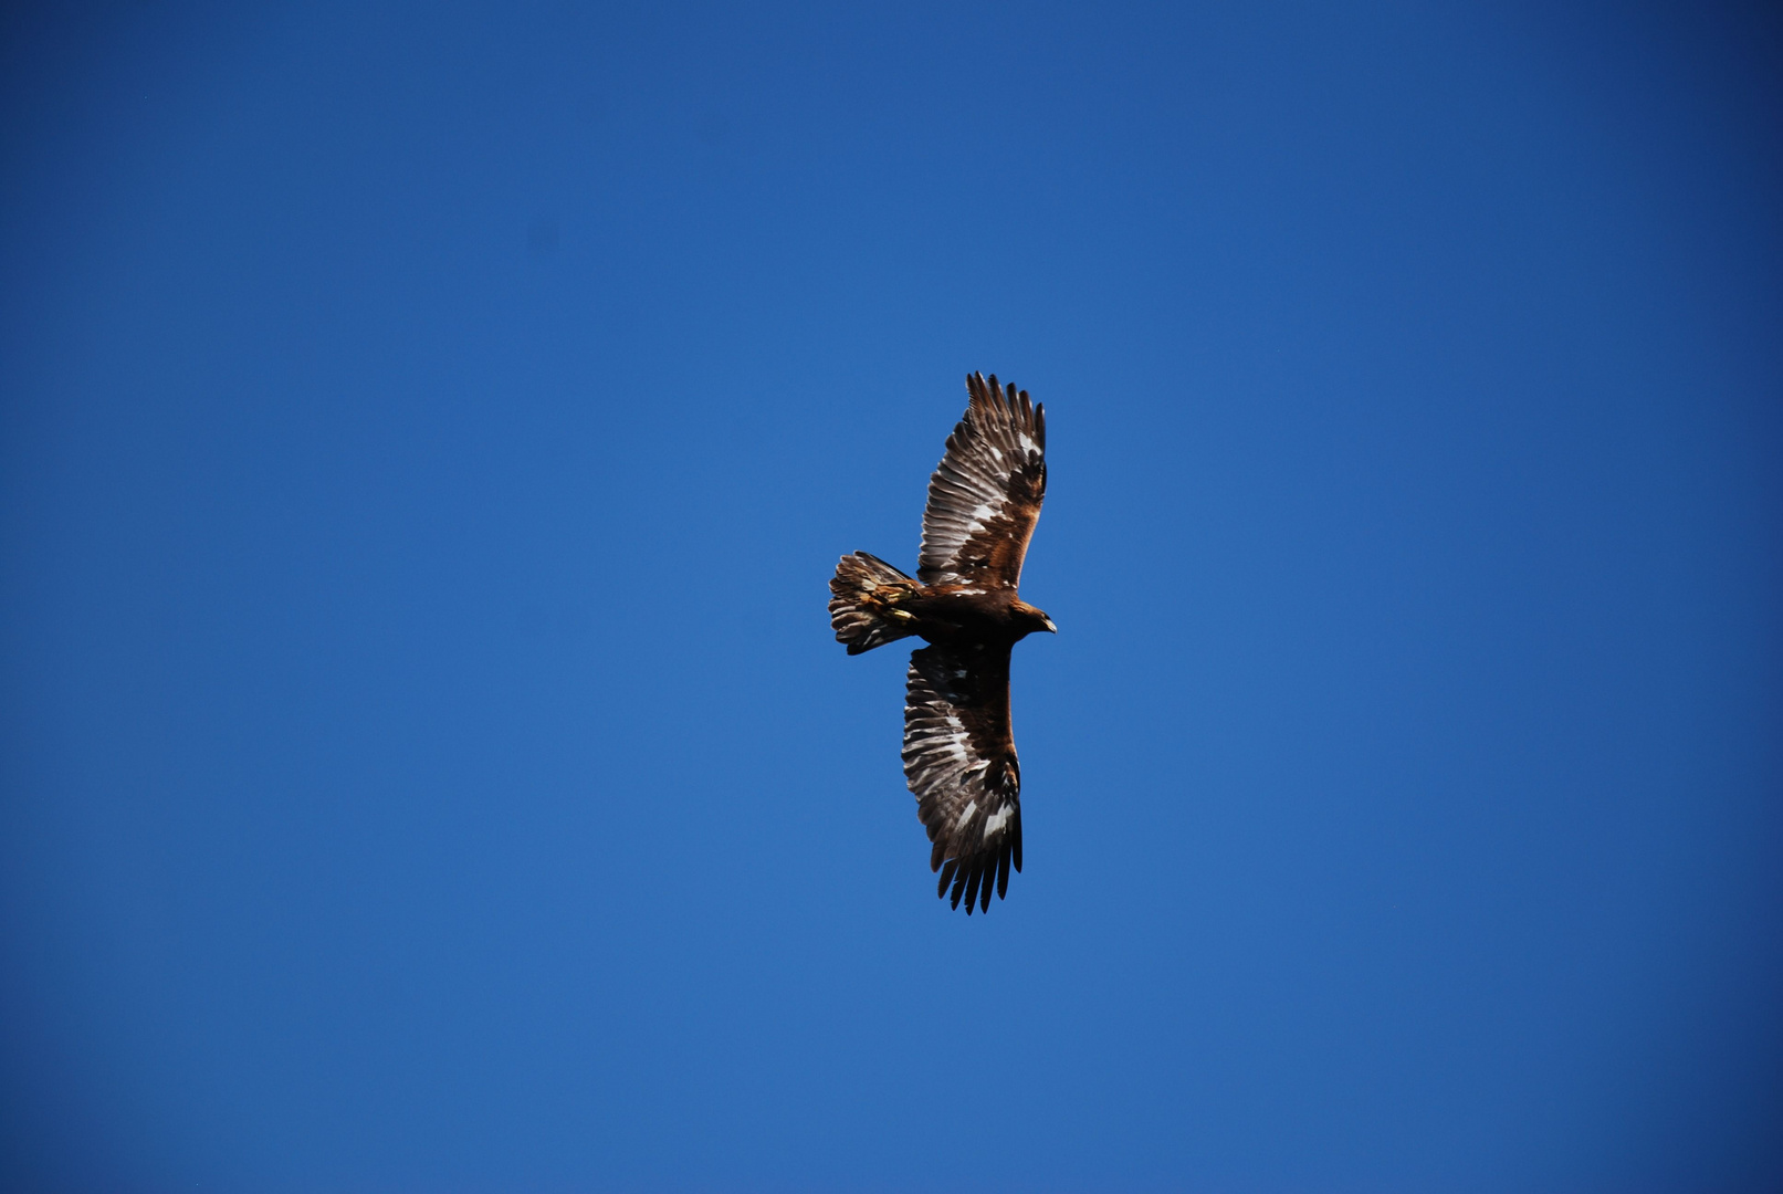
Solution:
[(936, 895), (952, 886), (991, 907), (1009, 889), (1009, 864), (1022, 870), (1022, 768), (1009, 732), (1009, 647), (924, 647), (909, 656), (904, 697), (904, 777), (941, 871)]

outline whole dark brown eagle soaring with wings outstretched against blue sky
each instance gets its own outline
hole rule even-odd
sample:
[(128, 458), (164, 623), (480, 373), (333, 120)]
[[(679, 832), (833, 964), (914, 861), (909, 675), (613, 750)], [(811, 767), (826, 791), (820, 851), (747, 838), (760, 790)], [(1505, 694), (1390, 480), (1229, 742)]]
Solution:
[(849, 654), (911, 634), (904, 777), (941, 873), (936, 895), (990, 911), (1022, 870), (1022, 768), (1009, 732), (1009, 650), (1057, 627), (1016, 597), (1047, 495), (1047, 412), (997, 374), (966, 378), (966, 417), (929, 478), (922, 552), (909, 577), (858, 551), (829, 581), (829, 624)]

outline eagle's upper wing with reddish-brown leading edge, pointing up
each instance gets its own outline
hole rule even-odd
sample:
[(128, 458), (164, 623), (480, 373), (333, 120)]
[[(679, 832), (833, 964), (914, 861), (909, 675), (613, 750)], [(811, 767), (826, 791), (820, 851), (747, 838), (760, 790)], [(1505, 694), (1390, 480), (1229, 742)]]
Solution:
[(966, 417), (947, 437), (922, 511), (924, 585), (1015, 588), (1047, 495), (1047, 410), (997, 374), (966, 378)]

